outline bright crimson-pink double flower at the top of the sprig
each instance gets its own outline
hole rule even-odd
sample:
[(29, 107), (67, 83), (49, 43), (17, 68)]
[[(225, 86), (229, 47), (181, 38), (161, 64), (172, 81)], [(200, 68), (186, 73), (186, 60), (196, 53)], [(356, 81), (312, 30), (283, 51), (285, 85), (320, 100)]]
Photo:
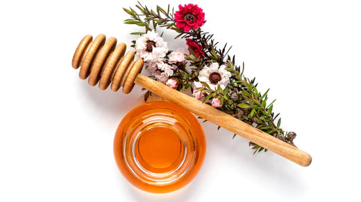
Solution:
[(204, 24), (204, 12), (202, 8), (192, 3), (179, 5), (179, 10), (174, 14), (176, 26), (187, 33), (190, 29), (200, 28)]

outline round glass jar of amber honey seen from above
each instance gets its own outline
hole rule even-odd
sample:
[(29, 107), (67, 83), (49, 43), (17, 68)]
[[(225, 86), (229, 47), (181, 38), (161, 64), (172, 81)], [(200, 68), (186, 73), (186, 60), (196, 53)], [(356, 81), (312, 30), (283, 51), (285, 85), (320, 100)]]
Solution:
[(164, 193), (190, 183), (205, 156), (205, 138), (192, 113), (171, 102), (149, 102), (119, 124), (115, 160), (124, 177), (147, 192)]

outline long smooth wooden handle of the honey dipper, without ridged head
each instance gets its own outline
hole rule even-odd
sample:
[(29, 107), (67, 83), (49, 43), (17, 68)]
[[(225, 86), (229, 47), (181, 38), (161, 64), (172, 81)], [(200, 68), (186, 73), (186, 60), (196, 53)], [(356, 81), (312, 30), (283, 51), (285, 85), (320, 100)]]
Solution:
[(312, 161), (310, 154), (303, 152), (301, 149), (289, 145), (282, 140), (278, 140), (277, 138), (256, 129), (237, 118), (233, 118), (232, 116), (229, 116), (228, 114), (219, 111), (208, 104), (196, 100), (196, 98), (192, 98), (189, 95), (185, 95), (184, 93), (171, 89), (165, 84), (161, 84), (160, 82), (152, 80), (141, 74), (137, 74), (137, 77), (135, 77), (135, 83), (148, 89), (152, 93), (165, 98), (166, 100), (174, 102), (179, 106), (192, 111), (192, 113), (196, 116), (201, 116), (202, 118), (205, 118), (206, 120), (227, 129), (228, 131), (232, 131), (235, 134), (250, 140), (252, 143), (265, 147), (280, 156), (292, 160), (294, 163), (302, 166), (308, 166)]

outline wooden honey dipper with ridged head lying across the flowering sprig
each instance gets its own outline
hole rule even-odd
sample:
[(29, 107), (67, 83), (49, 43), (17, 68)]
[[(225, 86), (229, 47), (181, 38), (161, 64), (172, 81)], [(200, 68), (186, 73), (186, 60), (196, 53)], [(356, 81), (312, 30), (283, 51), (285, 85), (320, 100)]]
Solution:
[(302, 166), (310, 165), (312, 161), (310, 154), (301, 149), (274, 138), (274, 136), (270, 136), (196, 98), (140, 74), (144, 64), (143, 59), (137, 59), (134, 62), (135, 53), (129, 51), (124, 55), (126, 44), (120, 43), (117, 46), (116, 44), (117, 39), (114, 37), (110, 37), (106, 41), (106, 36), (101, 34), (92, 41), (92, 36), (86, 35), (76, 48), (72, 60), (73, 68), (81, 66), (79, 77), (83, 80), (89, 77), (88, 82), (91, 86), (99, 82), (99, 88), (102, 90), (106, 89), (110, 83), (112, 91), (117, 91), (120, 86), (123, 86), (123, 93), (126, 94), (131, 92), (134, 84), (138, 84), (161, 98), (192, 111), (196, 116), (205, 118), (250, 140), (252, 143), (292, 160), (294, 163)]

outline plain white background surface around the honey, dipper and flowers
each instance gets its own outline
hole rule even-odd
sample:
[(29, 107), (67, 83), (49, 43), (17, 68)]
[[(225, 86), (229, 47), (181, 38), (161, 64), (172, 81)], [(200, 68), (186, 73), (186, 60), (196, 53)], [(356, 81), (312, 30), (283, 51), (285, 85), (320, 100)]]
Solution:
[[(206, 122), (205, 162), (190, 185), (137, 190), (118, 171), (112, 141), (144, 92), (101, 91), (71, 66), (86, 34), (135, 39), (128, 33), (139, 28), (122, 23), (135, 1), (1, 1), (0, 201), (360, 200), (360, 1), (196, 3), (203, 29), (271, 88), (283, 129), (296, 131), (312, 164), (253, 156), (247, 140)], [(166, 35), (171, 48), (185, 47)]]

